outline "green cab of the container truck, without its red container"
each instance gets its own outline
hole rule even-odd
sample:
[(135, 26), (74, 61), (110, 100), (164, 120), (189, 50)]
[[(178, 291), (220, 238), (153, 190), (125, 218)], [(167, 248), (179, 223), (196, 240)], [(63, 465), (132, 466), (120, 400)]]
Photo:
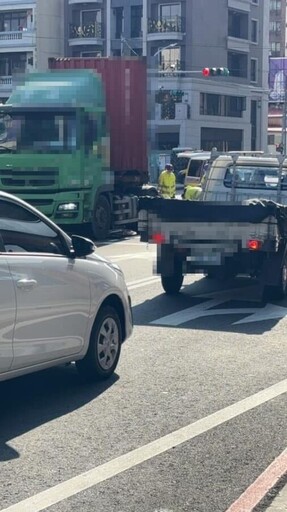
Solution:
[[(114, 69), (112, 61), (107, 64)], [(1, 189), (66, 229), (91, 223), (96, 239), (137, 222), (137, 196), (147, 181), (134, 168), (130, 175), (136, 187), (124, 180), (129, 169), (117, 174), (117, 167), (128, 166), (126, 154), (132, 150), (110, 140), (106, 88), (107, 81), (95, 70), (31, 73), (0, 108)], [(124, 130), (128, 124), (118, 119), (119, 127), (121, 122)], [(111, 144), (119, 165), (111, 166)], [(146, 148), (140, 149), (146, 156)]]

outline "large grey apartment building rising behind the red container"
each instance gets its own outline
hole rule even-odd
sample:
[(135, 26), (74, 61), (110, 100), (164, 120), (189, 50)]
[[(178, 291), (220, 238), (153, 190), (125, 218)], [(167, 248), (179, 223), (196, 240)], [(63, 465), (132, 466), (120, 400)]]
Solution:
[[(146, 57), (154, 154), (174, 146), (267, 147), (269, 2), (68, 4), (70, 56)], [(230, 76), (204, 78), (204, 67), (227, 67)]]

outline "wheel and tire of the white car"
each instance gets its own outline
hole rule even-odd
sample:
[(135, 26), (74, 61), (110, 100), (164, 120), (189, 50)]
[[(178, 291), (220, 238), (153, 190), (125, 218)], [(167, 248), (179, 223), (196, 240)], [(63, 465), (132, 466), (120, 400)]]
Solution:
[(88, 381), (105, 380), (114, 373), (119, 361), (122, 328), (116, 310), (111, 306), (100, 309), (91, 333), (88, 351), (77, 369)]

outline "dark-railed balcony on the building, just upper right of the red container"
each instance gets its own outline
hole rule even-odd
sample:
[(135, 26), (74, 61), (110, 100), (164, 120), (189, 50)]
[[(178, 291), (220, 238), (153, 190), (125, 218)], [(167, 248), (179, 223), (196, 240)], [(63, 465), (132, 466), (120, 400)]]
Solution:
[(181, 41), (184, 35), (185, 18), (181, 16), (149, 18), (148, 20), (148, 41)]

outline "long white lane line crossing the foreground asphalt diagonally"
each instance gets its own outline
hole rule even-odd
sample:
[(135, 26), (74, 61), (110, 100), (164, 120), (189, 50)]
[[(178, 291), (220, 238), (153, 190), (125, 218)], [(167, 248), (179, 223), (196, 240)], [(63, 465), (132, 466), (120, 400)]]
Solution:
[[(2, 509), (0, 512), (40, 512), (48, 507), (83, 492), (95, 485), (105, 482), (109, 478), (123, 473), (142, 464), (145, 461), (165, 453), (209, 430), (226, 423), (229, 420), (244, 414), (256, 407), (269, 402), (287, 392), (287, 379), (270, 386), (239, 402), (229, 405), (224, 409), (202, 418), (190, 425), (182, 427), (170, 434), (156, 439), (144, 446), (136, 448), (124, 455), (117, 457), (86, 471), (78, 476), (70, 478), (50, 489), (39, 492), (35, 496), (24, 499), (15, 505)], [(242, 512), (242, 510), (241, 510)]]

